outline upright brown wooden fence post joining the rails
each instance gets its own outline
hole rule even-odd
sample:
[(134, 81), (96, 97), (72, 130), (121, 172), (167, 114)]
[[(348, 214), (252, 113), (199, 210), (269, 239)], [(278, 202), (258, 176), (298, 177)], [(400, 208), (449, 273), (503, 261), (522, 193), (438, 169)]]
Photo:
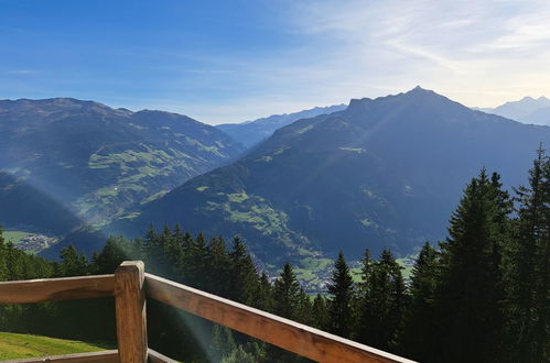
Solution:
[(125, 261), (115, 272), (115, 307), (120, 362), (147, 362), (144, 265)]

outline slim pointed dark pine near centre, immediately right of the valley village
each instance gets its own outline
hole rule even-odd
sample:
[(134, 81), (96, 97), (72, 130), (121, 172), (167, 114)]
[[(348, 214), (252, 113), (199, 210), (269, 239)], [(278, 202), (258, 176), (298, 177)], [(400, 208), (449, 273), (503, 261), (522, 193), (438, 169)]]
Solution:
[(328, 311), (331, 321), (328, 330), (339, 337), (349, 338), (352, 333), (352, 299), (354, 296), (354, 284), (344, 254), (339, 252), (334, 264), (332, 284), (328, 285), (331, 295)]

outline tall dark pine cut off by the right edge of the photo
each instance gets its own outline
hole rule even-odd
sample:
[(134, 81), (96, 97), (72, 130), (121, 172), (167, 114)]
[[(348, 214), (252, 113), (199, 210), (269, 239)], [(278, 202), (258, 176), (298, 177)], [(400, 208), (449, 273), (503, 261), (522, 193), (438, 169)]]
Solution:
[(539, 148), (529, 186), (516, 189), (518, 219), (506, 268), (510, 361), (550, 359), (550, 162)]

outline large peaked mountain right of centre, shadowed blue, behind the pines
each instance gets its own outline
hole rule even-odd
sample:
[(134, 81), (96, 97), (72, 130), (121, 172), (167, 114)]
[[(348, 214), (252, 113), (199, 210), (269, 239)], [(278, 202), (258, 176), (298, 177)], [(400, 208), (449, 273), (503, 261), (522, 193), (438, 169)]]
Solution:
[(525, 184), (550, 128), (473, 111), (416, 88), (352, 100), (278, 130), (239, 161), (197, 176), (106, 231), (181, 223), (240, 234), (265, 261), (365, 248), (409, 253), (445, 235), (463, 187), (486, 166)]

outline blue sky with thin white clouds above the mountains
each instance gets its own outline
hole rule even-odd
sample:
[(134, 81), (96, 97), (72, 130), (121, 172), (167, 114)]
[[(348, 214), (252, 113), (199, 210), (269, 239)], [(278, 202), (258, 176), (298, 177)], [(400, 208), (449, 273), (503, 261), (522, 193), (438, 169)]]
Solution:
[(0, 0), (0, 99), (239, 122), (416, 85), (550, 97), (550, 1)]

